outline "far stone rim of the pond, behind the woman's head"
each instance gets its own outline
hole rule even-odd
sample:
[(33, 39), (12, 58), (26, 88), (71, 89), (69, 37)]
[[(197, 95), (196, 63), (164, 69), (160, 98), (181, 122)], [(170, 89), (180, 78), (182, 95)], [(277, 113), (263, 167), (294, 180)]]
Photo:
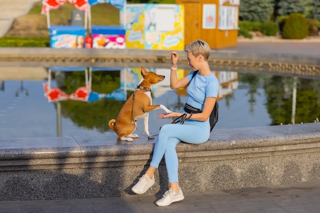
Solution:
[[(180, 55), (180, 62), (186, 62), (185, 51), (176, 51)], [(52, 48), (0, 48), (0, 61), (3, 66), (56, 66), (67, 63), (85, 64), (85, 66), (126, 67), (127, 64), (150, 64), (157, 67), (170, 64), (168, 50), (143, 50), (143, 49), (52, 49)], [(216, 60), (287, 63), (295, 65), (318, 66), (317, 56), (302, 54), (257, 53), (232, 50), (212, 50), (209, 63)], [(112, 64), (115, 64), (112, 66)], [(180, 63), (180, 68), (189, 69), (187, 63)], [(160, 68), (160, 67), (158, 67)]]

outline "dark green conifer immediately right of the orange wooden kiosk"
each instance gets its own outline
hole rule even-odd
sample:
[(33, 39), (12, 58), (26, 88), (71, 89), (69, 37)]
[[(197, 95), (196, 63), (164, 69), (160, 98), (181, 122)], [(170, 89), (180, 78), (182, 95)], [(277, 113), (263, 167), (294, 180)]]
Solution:
[(272, 10), (272, 0), (242, 0), (239, 7), (239, 18), (247, 21), (268, 21)]

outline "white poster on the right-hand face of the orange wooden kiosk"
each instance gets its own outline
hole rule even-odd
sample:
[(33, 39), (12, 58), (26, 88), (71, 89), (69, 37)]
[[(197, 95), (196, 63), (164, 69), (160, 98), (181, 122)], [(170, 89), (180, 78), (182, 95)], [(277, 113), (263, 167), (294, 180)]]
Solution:
[(219, 30), (238, 30), (238, 7), (220, 6)]

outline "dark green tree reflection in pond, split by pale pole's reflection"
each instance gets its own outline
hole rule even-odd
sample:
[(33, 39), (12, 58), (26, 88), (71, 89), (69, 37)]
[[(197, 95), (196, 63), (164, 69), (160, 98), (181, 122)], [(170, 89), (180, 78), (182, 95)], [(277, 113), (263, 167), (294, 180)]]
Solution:
[[(265, 81), (266, 107), (272, 123), (270, 125), (312, 123), (319, 117), (319, 80), (297, 79), (296, 99), (293, 100), (294, 78), (272, 76)], [(295, 111), (293, 112), (293, 104)]]

